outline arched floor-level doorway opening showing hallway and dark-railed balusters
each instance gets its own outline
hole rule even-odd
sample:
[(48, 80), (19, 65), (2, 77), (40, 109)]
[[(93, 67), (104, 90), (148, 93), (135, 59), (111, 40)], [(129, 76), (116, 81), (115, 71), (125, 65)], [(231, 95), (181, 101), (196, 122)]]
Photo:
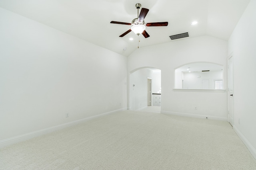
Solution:
[(132, 70), (129, 76), (129, 109), (160, 113), (160, 106), (161, 70), (152, 67)]

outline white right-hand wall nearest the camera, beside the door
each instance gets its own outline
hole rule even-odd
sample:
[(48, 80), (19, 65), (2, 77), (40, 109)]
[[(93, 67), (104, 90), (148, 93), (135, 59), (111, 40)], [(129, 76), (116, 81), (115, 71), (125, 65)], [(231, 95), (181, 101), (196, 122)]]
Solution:
[(228, 54), (234, 57), (233, 127), (256, 158), (255, 7), (256, 0), (251, 0), (228, 41)]

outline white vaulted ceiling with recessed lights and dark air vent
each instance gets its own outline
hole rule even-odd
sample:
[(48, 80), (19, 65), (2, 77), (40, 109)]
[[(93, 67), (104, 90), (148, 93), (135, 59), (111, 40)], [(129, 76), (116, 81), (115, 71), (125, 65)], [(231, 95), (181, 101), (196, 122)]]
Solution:
[[(146, 27), (140, 47), (166, 43), (170, 35), (210, 35), (228, 40), (250, 0), (0, 0), (0, 7), (38, 21), (116, 53), (129, 56), (138, 48), (138, 36), (122, 33), (137, 18), (136, 3), (149, 9), (145, 22), (168, 21), (167, 27)], [(192, 21), (198, 21), (191, 25)], [(4, 25), (2, 25), (4, 26)], [(130, 40), (133, 38), (133, 40)], [(124, 50), (126, 49), (126, 50)]]

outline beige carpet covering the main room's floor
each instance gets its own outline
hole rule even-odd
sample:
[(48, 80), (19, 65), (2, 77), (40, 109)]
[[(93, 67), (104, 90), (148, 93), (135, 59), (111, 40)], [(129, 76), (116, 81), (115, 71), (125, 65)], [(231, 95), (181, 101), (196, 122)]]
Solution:
[(0, 150), (2, 170), (256, 170), (228, 122), (122, 111)]

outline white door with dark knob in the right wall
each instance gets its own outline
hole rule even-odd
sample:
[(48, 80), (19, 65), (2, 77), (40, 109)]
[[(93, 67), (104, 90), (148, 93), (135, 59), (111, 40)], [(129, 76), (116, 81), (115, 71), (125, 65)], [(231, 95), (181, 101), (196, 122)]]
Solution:
[(233, 57), (228, 59), (228, 122), (234, 123), (234, 102), (233, 102)]

